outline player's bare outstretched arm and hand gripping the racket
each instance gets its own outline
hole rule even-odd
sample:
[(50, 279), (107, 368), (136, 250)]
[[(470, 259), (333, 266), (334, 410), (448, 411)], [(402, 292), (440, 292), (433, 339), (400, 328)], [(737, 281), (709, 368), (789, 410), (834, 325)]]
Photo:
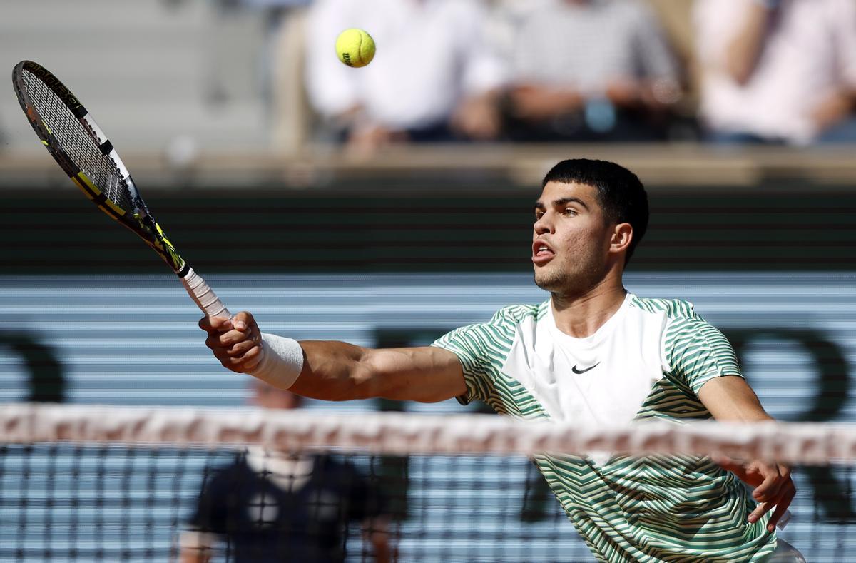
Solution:
[[(205, 317), (199, 328), (206, 346), (229, 370), (256, 375), (265, 341), (253, 315)], [(265, 373), (265, 381), (312, 399), (352, 400), (383, 397), (436, 402), (466, 392), (461, 361), (437, 347), (372, 349), (338, 341), (301, 341), (300, 375)], [(284, 371), (284, 370), (283, 370)]]

